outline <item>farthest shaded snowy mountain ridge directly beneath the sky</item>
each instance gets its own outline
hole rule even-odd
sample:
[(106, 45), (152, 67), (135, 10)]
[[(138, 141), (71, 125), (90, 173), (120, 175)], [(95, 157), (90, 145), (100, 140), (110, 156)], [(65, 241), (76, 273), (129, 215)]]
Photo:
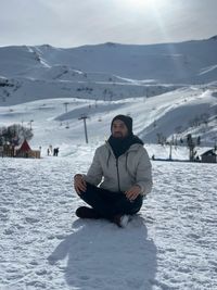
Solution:
[(151, 46), (107, 42), (72, 49), (7, 47), (0, 48), (0, 75), (27, 77), (34, 68), (65, 65), (86, 73), (100, 72), (131, 79), (202, 84), (216, 80), (216, 50), (215, 37)]

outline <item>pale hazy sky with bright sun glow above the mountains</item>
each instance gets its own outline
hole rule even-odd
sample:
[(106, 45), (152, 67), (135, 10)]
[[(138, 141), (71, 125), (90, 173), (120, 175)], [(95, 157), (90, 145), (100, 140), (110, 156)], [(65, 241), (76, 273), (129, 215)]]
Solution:
[(0, 0), (0, 46), (161, 43), (217, 35), (216, 0)]

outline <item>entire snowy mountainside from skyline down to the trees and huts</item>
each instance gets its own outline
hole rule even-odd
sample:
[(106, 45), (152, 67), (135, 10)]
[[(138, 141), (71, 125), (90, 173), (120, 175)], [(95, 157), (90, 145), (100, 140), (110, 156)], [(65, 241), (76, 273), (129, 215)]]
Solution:
[[(90, 116), (89, 138), (98, 140), (107, 136), (107, 124), (114, 114), (126, 113), (135, 118), (135, 130), (145, 142), (156, 142), (159, 136), (169, 140), (173, 135), (181, 138), (192, 133), (201, 136), (204, 144), (213, 146), (217, 115), (216, 43), (216, 38), (210, 38), (154, 46), (0, 48), (0, 121), (4, 124), (34, 119), (35, 136), (41, 137), (36, 139), (37, 146), (48, 144), (53, 138), (62, 146), (63, 128), (67, 128), (64, 138), (77, 136), (80, 140), (80, 114)], [(136, 79), (141, 72), (143, 77)], [(163, 72), (169, 84), (157, 83), (163, 80)], [(206, 83), (212, 75), (212, 83), (173, 85), (183, 80), (183, 72), (187, 83), (194, 83), (196, 75), (199, 83)], [(101, 126), (95, 133), (98, 123)]]

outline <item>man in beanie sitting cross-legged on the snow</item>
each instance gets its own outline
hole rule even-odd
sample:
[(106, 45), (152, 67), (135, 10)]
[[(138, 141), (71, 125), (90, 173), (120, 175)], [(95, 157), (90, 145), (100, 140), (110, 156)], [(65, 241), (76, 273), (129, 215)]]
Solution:
[(124, 227), (152, 189), (152, 169), (142, 140), (132, 133), (131, 117), (115, 116), (111, 131), (105, 144), (95, 150), (87, 175), (74, 176), (76, 192), (91, 206), (78, 207), (76, 215), (106, 218)]

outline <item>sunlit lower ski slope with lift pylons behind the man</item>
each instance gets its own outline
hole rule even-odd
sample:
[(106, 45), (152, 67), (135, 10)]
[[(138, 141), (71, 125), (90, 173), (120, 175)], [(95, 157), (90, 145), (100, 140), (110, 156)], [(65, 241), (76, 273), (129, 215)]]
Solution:
[(129, 114), (133, 118), (135, 134), (145, 143), (156, 143), (158, 135), (167, 140), (171, 140), (173, 136), (179, 140), (191, 133), (194, 138), (201, 137), (202, 146), (213, 147), (217, 141), (216, 93), (216, 89), (194, 86), (152, 98), (117, 101), (46, 99), (1, 106), (0, 123), (22, 123), (28, 127), (33, 121), (31, 144), (37, 148), (42, 146), (43, 154), (50, 143), (62, 148), (61, 154), (68, 155), (72, 141), (76, 146), (85, 142), (84, 123), (78, 119), (81, 115), (88, 116), (91, 143), (110, 136), (110, 123), (116, 114)]

